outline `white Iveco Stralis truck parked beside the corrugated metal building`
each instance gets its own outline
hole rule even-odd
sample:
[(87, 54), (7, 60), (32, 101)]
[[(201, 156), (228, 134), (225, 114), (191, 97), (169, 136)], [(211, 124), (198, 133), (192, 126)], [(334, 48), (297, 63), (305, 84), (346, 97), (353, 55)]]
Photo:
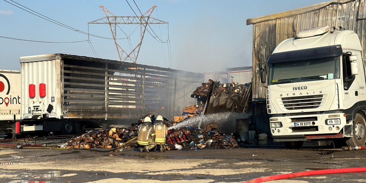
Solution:
[(354, 31), (329, 26), (299, 31), (276, 46), (261, 66), (262, 83), (268, 72), (266, 101), (274, 141), (287, 148), (311, 140), (365, 145), (361, 50)]

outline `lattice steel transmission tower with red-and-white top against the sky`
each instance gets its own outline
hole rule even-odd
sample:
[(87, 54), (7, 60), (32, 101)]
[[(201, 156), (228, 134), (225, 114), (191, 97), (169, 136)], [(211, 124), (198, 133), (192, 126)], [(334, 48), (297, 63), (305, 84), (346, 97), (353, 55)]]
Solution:
[[(115, 16), (110, 11), (107, 10), (104, 6), (100, 6), (102, 10), (105, 13), (105, 17), (100, 18), (98, 20), (94, 20), (92, 22), (88, 22), (90, 24), (109, 24), (111, 27), (111, 32), (113, 36), (113, 40), (116, 44), (117, 52), (119, 59), (121, 61), (132, 61), (133, 63), (136, 63), (138, 53), (140, 52), (141, 44), (143, 36), (145, 35), (146, 27), (148, 24), (168, 24), (168, 22), (164, 22), (163, 20), (159, 20), (156, 18), (150, 17), (152, 12), (155, 9), (155, 5), (147, 10), (142, 16)], [(117, 36), (116, 36), (116, 30), (117, 27), (121, 29), (118, 24), (139, 24), (140, 30), (141, 30), (141, 40), (139, 44), (132, 49), (130, 53), (127, 53), (125, 49), (123, 49), (120, 45), (117, 43)], [(121, 29), (122, 30), (122, 29)], [(122, 30), (123, 31), (123, 30)], [(127, 37), (129, 39), (129, 37)], [(132, 47), (132, 46), (131, 46)]]

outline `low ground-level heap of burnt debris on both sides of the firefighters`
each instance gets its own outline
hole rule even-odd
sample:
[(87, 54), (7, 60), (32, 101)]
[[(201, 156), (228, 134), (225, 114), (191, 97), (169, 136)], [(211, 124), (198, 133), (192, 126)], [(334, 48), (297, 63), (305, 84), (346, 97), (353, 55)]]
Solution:
[[(190, 118), (188, 116), (187, 118)], [(186, 118), (186, 119), (187, 119)], [(178, 122), (165, 120), (168, 127), (172, 127)], [(124, 142), (137, 136), (137, 126), (129, 128), (111, 128), (103, 131), (88, 131), (85, 134), (74, 137), (70, 141), (62, 144), (61, 148), (115, 148)], [(168, 130), (167, 146), (168, 150), (173, 149), (232, 149), (239, 147), (234, 135), (225, 135), (218, 130), (216, 124), (211, 123), (204, 128), (199, 128), (193, 124), (179, 129)], [(133, 141), (130, 146), (137, 147)]]

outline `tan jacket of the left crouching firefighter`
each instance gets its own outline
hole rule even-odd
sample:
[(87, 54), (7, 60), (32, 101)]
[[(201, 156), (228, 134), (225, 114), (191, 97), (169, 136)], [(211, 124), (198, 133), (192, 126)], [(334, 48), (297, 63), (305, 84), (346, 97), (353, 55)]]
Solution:
[(154, 143), (155, 131), (153, 124), (146, 122), (138, 127), (137, 143), (142, 146), (147, 146)]

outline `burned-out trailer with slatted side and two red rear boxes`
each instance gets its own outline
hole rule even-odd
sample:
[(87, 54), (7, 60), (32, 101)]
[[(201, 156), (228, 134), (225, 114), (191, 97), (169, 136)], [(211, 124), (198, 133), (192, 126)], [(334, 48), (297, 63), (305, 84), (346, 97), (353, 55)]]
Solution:
[[(75, 132), (77, 124), (130, 124), (146, 113), (173, 116), (203, 75), (93, 57), (20, 57), (22, 125)], [(185, 93), (184, 93), (185, 92)]]

